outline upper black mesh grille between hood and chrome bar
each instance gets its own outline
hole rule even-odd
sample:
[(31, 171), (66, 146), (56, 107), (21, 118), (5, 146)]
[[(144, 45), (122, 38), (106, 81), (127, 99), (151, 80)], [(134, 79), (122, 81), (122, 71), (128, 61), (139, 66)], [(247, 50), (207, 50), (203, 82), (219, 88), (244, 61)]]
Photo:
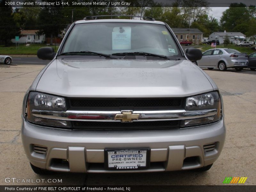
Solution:
[(180, 98), (110, 98), (110, 99), (69, 99), (71, 108), (80, 110), (163, 110), (180, 109)]

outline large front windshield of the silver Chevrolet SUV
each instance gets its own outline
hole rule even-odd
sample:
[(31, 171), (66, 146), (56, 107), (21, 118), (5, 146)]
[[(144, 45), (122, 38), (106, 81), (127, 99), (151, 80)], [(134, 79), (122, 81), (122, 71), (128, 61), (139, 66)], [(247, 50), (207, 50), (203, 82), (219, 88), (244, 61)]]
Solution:
[(83, 51), (103, 54), (147, 52), (167, 57), (181, 55), (165, 25), (129, 22), (76, 24), (61, 53)]

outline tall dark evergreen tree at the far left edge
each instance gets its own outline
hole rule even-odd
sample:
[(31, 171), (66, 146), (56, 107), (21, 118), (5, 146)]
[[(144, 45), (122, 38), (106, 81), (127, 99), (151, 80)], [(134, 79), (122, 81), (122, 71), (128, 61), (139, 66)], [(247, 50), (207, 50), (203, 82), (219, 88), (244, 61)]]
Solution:
[(4, 1), (0, 1), (0, 18), (0, 42), (8, 46), (12, 38), (20, 35), (20, 29), (13, 19), (12, 7), (4, 5)]

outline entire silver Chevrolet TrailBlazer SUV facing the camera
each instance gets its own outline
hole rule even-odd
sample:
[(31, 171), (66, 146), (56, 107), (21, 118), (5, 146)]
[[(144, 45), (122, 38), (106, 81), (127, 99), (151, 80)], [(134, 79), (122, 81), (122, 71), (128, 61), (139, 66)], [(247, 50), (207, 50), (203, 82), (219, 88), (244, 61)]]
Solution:
[(38, 50), (51, 61), (22, 111), (34, 172), (207, 171), (220, 156), (223, 102), (190, 61), (202, 52), (184, 53), (166, 23), (141, 19), (88, 16), (70, 26), (56, 53)]

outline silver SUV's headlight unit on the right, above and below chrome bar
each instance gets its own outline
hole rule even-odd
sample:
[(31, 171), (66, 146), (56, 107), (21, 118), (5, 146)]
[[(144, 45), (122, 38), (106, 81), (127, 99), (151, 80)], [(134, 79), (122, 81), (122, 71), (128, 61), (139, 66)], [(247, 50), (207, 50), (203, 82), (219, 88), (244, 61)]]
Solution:
[[(214, 116), (200, 117), (200, 110), (216, 109), (217, 113)], [(185, 110), (198, 110), (198, 118), (187, 119), (181, 122), (181, 126), (200, 125), (215, 122), (220, 120), (221, 101), (218, 92), (209, 92), (201, 95), (188, 97), (186, 99)]]

